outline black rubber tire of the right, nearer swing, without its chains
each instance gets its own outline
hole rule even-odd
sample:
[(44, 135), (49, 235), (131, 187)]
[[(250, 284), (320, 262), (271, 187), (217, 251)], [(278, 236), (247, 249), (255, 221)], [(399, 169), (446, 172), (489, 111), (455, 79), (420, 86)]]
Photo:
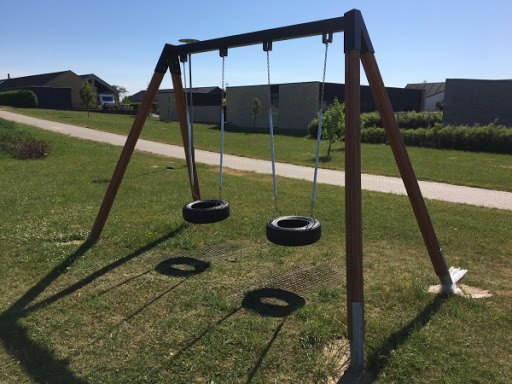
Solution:
[(267, 239), (277, 245), (309, 245), (320, 240), (321, 235), (320, 222), (309, 216), (281, 216), (267, 223)]

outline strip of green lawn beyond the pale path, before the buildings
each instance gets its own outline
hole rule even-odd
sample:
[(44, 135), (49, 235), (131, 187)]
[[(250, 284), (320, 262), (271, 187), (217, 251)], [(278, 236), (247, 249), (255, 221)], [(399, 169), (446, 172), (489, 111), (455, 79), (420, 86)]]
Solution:
[[(7, 109), (7, 108), (6, 108)], [(119, 134), (127, 134), (133, 116), (55, 111), (44, 109), (12, 109), (23, 114), (55, 120), (69, 124), (87, 126)], [(219, 151), (217, 126), (195, 124), (196, 148)], [(175, 122), (148, 120), (141, 134), (148, 140), (181, 145), (179, 126)], [(226, 153), (270, 159), (270, 144), (267, 134), (226, 132)], [(454, 150), (409, 147), (416, 175), (420, 180), (432, 180), (457, 185), (512, 191), (512, 156), (503, 154), (475, 153)], [(327, 142), (322, 142), (321, 154), (327, 153)], [(309, 137), (276, 137), (276, 159), (293, 164), (314, 165), (315, 142)], [(324, 168), (343, 169), (344, 143), (336, 143), (330, 161), (323, 161)], [(365, 173), (399, 176), (391, 148), (382, 144), (362, 145), (362, 168)]]

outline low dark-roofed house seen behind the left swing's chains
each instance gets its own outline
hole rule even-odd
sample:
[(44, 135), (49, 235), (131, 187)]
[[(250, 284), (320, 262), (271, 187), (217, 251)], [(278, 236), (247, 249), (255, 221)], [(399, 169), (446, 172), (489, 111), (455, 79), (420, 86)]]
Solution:
[[(187, 98), (189, 98), (190, 89), (187, 88), (184, 91), (187, 93)], [(220, 121), (221, 99), (222, 89), (219, 87), (192, 88), (193, 121), (218, 124)], [(158, 91), (156, 100), (161, 121), (178, 120), (174, 90), (161, 89)]]

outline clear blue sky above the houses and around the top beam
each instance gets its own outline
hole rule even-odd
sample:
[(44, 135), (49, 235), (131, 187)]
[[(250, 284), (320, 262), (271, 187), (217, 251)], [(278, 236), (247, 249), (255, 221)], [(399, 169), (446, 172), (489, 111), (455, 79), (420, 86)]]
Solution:
[[(70, 69), (131, 94), (147, 87), (165, 43), (338, 17), (352, 8), (363, 14), (388, 86), (512, 79), (510, 0), (7, 0), (0, 7), (0, 78)], [(342, 83), (341, 34), (329, 52), (327, 80)], [(322, 62), (320, 37), (275, 43), (272, 82), (320, 80)], [(194, 86), (220, 85), (216, 52), (194, 55), (193, 64)], [(230, 50), (226, 82), (266, 82), (261, 46)], [(161, 88), (170, 87), (166, 75)]]

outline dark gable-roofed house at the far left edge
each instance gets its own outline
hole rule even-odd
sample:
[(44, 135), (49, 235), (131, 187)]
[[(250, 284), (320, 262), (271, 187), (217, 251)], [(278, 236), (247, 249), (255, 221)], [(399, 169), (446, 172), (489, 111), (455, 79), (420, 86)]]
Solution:
[(44, 73), (40, 75), (9, 77), (0, 83), (0, 91), (29, 89), (39, 100), (41, 108), (78, 108), (82, 79), (73, 71)]

